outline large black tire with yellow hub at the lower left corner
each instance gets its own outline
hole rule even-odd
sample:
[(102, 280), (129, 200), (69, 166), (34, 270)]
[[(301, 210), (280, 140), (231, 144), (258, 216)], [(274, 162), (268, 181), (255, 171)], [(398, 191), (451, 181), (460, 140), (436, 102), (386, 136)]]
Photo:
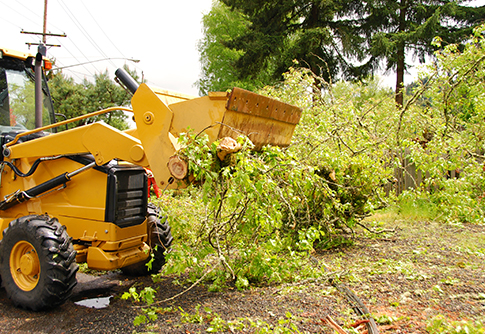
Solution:
[(15, 306), (41, 311), (69, 298), (78, 270), (71, 240), (65, 226), (47, 215), (10, 222), (0, 241), (0, 275)]

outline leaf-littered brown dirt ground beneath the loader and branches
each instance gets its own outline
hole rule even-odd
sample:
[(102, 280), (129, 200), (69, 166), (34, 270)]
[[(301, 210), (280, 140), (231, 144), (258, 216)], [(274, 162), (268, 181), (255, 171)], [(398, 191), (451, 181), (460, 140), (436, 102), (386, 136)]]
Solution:
[[(379, 217), (375, 219), (379, 221)], [(485, 321), (485, 226), (409, 223), (399, 219), (366, 223), (393, 232), (356, 232), (354, 245), (314, 254), (331, 276), (367, 306), (381, 333), (428, 333), (430, 319)], [(341, 326), (360, 318), (353, 304), (328, 280), (208, 292), (196, 286), (157, 305), (158, 319), (133, 325), (141, 304), (122, 300), (130, 286), (152, 286), (163, 300), (183, 291), (180, 277), (126, 278), (119, 273), (78, 274), (71, 300), (49, 312), (14, 308), (0, 289), (0, 333), (334, 333), (322, 320)], [(106, 308), (76, 304), (113, 296)], [(219, 324), (219, 327), (217, 327)], [(221, 325), (222, 324), (222, 325)], [(293, 326), (293, 327), (292, 327)], [(286, 331), (285, 331), (286, 330)], [(347, 329), (348, 333), (351, 333)], [(364, 333), (358, 327), (353, 333)]]

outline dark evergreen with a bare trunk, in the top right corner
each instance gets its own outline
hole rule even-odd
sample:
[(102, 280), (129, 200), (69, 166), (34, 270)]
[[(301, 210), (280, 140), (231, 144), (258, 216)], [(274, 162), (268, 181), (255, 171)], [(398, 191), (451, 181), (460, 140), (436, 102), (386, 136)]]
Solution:
[(439, 37), (444, 45), (467, 39), (485, 19), (485, 7), (468, 7), (463, 0), (355, 1), (352, 16), (359, 20), (353, 30), (361, 36), (360, 48), (369, 55), (371, 67), (385, 62), (386, 71), (396, 71), (396, 103), (403, 104), (404, 73), (411, 53), (421, 63), (436, 51)]

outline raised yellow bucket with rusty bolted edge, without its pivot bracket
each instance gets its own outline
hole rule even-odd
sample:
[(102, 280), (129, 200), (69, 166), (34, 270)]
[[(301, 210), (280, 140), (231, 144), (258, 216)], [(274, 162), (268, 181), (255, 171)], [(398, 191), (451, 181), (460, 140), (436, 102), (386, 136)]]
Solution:
[[(162, 101), (167, 98), (160, 90), (156, 93)], [(245, 135), (255, 150), (265, 145), (288, 146), (301, 117), (300, 108), (241, 88), (179, 99), (168, 106), (173, 112), (170, 133), (175, 138), (189, 128), (206, 133), (211, 142)]]

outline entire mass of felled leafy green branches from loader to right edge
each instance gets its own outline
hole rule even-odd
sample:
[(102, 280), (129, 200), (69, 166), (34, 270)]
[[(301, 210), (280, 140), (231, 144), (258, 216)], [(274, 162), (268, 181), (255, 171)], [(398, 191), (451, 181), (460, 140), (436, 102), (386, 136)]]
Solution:
[(165, 272), (187, 271), (212, 289), (321, 275), (309, 254), (351, 241), (360, 219), (391, 203), (405, 158), (425, 177), (398, 203), (426, 203), (434, 218), (482, 221), (482, 30), (462, 50), (437, 53), (402, 106), (373, 80), (326, 83), (316, 94), (322, 78), (290, 70), (282, 85), (263, 90), (304, 110), (288, 148), (254, 152), (241, 137), (243, 149), (221, 162), (217, 143), (183, 136), (181, 155), (197, 185), (160, 200), (178, 239)]

